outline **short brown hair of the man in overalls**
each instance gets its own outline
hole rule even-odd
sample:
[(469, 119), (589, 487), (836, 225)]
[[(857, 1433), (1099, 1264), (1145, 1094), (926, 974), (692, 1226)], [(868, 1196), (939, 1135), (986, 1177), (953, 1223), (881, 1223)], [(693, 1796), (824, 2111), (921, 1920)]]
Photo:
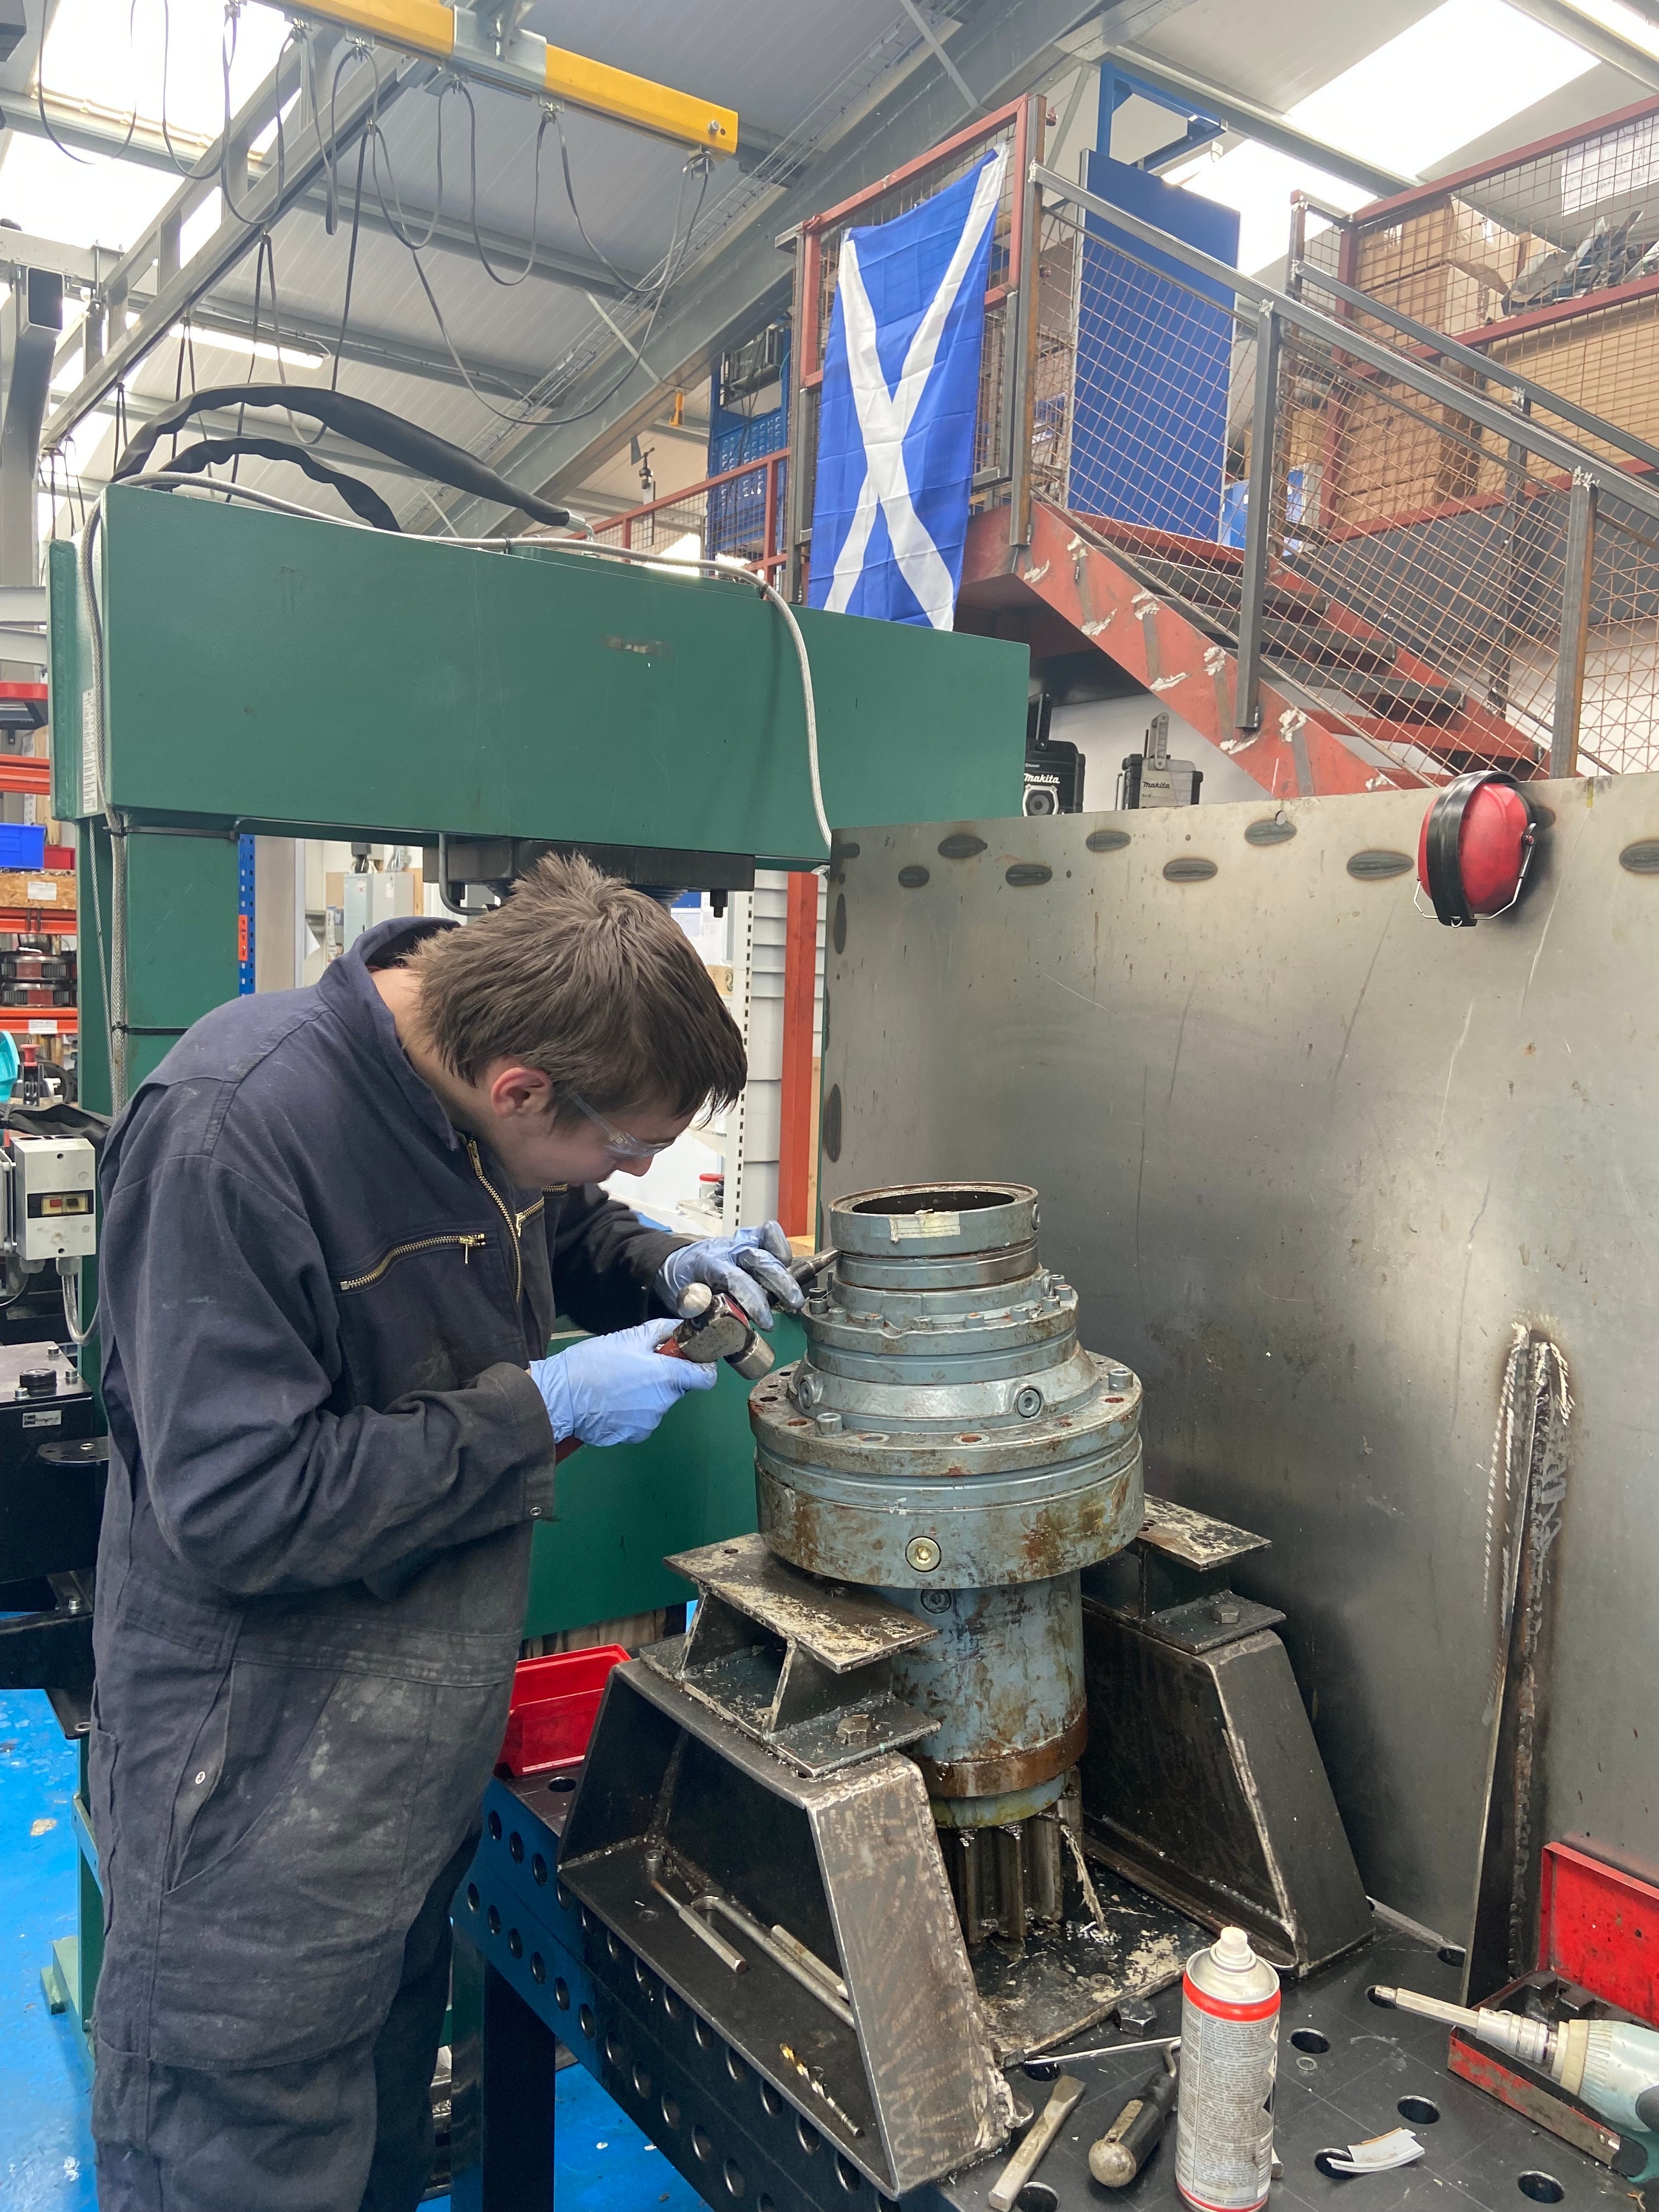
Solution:
[(748, 1062), (714, 980), (666, 907), (580, 856), (549, 856), (507, 905), (420, 951), (420, 1026), (462, 1082), (515, 1060), (615, 1113), (730, 1106)]

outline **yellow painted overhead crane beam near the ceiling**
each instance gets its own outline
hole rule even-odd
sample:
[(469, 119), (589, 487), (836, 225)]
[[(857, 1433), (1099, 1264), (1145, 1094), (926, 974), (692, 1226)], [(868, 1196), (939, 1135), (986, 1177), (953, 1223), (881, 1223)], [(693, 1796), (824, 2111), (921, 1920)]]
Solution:
[[(681, 146), (701, 146), (712, 155), (737, 153), (737, 108), (677, 93), (668, 84), (653, 84), (650, 77), (635, 77), (608, 62), (591, 62), (584, 53), (549, 46), (526, 33), (513, 40), (509, 60), (489, 62), (469, 51), (465, 40), (456, 42), (456, 11), (440, 0), (299, 0), (288, 13), (334, 22), (365, 38), (378, 38), (387, 46), (405, 46), (409, 53), (436, 53), (451, 69), (484, 84), (564, 100), (573, 108), (637, 124)], [(533, 66), (538, 55), (544, 55), (540, 77)]]

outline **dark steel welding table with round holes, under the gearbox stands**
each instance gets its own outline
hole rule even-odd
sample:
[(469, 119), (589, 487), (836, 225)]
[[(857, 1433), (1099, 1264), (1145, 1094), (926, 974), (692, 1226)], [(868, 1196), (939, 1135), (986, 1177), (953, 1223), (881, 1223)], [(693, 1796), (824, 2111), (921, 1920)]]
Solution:
[[(577, 1781), (580, 1761), (551, 1778), (493, 1781), (478, 1858), (456, 1898), (456, 2212), (540, 2212), (553, 2203), (555, 2035), (710, 2205), (894, 2212), (681, 1991), (562, 1893), (560, 1832)], [(1367, 2000), (1371, 1982), (1455, 2000), (1460, 1975), (1427, 1942), (1378, 1922), (1374, 1949), (1285, 1984), (1274, 2130), (1283, 2179), (1272, 2185), (1270, 2212), (1327, 2212), (1347, 2190), (1345, 2212), (1405, 2212), (1431, 2201), (1526, 2212), (1528, 2199), (1566, 2212), (1630, 2212), (1628, 2181), (1447, 2073), (1447, 2031), (1378, 2011)], [(1155, 2011), (1152, 2033), (1177, 2033), (1179, 1989), (1164, 1991)], [(1091, 2141), (1146, 2081), (1152, 2059), (1135, 2051), (1075, 2068), (1088, 2090), (1022, 2192), (1022, 2212), (1075, 2212), (1115, 2197), (1137, 2212), (1181, 2212), (1172, 2128), (1128, 2190), (1104, 2190), (1088, 2177)], [(1013, 2081), (1042, 2106), (1042, 2081), (1020, 2070)], [(1402, 2121), (1425, 2146), (1416, 2166), (1338, 2179), (1314, 2163), (1321, 2150)], [(980, 2212), (1006, 2157), (911, 2190), (905, 2212)]]

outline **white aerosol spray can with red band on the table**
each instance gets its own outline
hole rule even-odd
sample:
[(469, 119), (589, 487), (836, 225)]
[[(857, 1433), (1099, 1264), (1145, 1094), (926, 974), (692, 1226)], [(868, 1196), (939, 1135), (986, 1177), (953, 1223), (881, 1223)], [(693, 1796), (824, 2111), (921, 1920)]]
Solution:
[(1274, 2163), (1279, 1975), (1221, 1929), (1181, 1980), (1175, 2183), (1197, 2212), (1259, 2212)]

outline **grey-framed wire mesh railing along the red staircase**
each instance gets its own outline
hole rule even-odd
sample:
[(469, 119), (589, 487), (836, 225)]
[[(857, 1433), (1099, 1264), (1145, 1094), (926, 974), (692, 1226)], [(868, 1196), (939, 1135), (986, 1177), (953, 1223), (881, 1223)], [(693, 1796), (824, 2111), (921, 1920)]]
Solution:
[(1248, 279), (1071, 197), (1042, 263), (1037, 493), (1219, 644), (1254, 626), (1281, 699), (1427, 779), (1659, 765), (1659, 500), (1593, 442), (1294, 301), (1259, 396)]

